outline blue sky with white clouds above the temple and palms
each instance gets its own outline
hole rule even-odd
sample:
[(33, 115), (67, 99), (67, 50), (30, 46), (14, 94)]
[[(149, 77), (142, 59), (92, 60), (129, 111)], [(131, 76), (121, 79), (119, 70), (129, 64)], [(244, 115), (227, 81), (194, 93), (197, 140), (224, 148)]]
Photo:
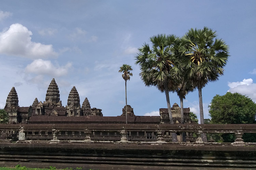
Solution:
[[(256, 101), (256, 1), (2, 1), (0, 6), (0, 108), (14, 86), (19, 106), (45, 100), (55, 78), (62, 105), (76, 87), (104, 116), (122, 114), (125, 86), (119, 67), (129, 64), (127, 103), (135, 115), (158, 115), (165, 95), (145, 87), (134, 56), (159, 33), (182, 37), (209, 27), (229, 45), (219, 81), (203, 88), (205, 118), (215, 95), (239, 92)], [(171, 105), (179, 104), (170, 94)], [(198, 91), (185, 107), (199, 115)], [(198, 116), (199, 118), (199, 116)]]

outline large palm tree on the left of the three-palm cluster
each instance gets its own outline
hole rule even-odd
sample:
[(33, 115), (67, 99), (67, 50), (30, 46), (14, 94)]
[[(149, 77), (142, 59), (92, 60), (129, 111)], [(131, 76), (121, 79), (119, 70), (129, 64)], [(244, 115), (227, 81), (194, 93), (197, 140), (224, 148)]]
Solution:
[[(173, 91), (174, 79), (178, 76), (178, 62), (172, 55), (172, 47), (178, 38), (174, 35), (150, 37), (152, 47), (144, 44), (139, 48), (135, 64), (140, 65), (140, 77), (146, 86), (156, 86), (165, 92), (170, 123), (174, 124), (171, 112), (169, 92)], [(172, 133), (172, 141), (177, 142), (177, 134)]]

